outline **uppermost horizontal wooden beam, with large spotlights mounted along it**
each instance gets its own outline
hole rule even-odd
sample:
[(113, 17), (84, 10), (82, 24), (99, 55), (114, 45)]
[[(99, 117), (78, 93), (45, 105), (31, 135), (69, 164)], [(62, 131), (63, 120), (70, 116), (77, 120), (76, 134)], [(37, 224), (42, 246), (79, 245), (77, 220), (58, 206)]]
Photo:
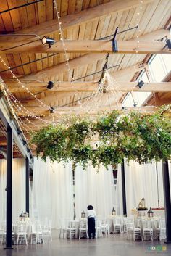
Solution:
[[(48, 45), (36, 43), (37, 46), (31, 44), (19, 46), (14, 49), (8, 49), (3, 53), (63, 53), (64, 46), (62, 41), (49, 48)], [(110, 54), (171, 54), (171, 51), (164, 46), (165, 42), (159, 41), (117, 41), (116, 51), (112, 49), (112, 41), (108, 40), (85, 40), (85, 41), (64, 41), (67, 52), (70, 53), (110, 53)]]

